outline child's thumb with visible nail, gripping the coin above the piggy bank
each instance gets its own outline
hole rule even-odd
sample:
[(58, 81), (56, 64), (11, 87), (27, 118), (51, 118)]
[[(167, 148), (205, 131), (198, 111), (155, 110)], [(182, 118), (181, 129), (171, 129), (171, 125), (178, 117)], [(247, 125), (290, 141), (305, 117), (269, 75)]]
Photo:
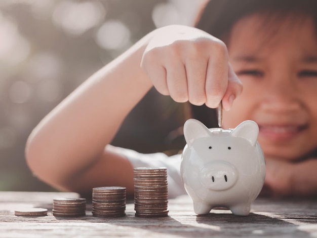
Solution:
[(222, 98), (222, 106), (224, 110), (230, 110), (234, 99), (242, 93), (242, 83), (234, 73), (231, 65), (228, 65), (228, 86)]

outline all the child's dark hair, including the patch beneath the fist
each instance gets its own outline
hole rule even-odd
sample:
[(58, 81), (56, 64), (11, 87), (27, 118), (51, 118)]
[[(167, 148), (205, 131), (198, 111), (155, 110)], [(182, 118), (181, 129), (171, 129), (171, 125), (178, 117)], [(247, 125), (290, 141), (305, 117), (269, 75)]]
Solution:
[[(257, 12), (283, 16), (298, 13), (311, 16), (317, 33), (317, 0), (210, 0), (200, 13), (195, 26), (223, 39), (241, 18)], [(190, 105), (191, 114), (207, 127), (218, 127), (216, 110), (206, 105)]]

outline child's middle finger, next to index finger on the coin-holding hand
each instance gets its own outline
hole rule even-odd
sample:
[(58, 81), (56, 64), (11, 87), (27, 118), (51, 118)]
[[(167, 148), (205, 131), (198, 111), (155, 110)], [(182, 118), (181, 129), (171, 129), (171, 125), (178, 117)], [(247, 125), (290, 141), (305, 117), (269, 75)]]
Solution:
[(206, 68), (207, 60), (190, 59), (186, 61), (188, 101), (196, 106), (206, 102)]

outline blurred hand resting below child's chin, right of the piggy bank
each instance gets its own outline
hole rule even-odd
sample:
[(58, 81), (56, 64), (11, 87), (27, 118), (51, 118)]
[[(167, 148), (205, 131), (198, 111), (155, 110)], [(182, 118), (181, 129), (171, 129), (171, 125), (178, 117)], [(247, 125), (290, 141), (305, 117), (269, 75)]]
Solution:
[(265, 186), (276, 196), (317, 195), (317, 158), (289, 162), (265, 158)]

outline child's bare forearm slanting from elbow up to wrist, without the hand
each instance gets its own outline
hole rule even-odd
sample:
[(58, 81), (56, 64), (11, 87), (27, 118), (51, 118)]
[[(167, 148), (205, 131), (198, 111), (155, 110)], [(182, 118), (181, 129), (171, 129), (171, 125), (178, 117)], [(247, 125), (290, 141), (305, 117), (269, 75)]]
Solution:
[(27, 163), (46, 182), (69, 179), (102, 153), (126, 115), (152, 87), (140, 68), (150, 34), (100, 69), (32, 131)]

